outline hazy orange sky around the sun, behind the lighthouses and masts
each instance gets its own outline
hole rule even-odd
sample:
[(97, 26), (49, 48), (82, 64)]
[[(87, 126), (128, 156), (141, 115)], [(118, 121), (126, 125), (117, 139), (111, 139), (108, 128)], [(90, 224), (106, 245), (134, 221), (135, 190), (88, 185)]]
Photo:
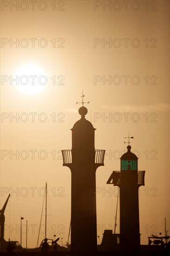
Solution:
[[(22, 216), (27, 245), (36, 246), (47, 181), (47, 237), (67, 241), (71, 172), (62, 166), (60, 150), (72, 147), (82, 89), (90, 101), (86, 119), (97, 129), (95, 148), (106, 150), (105, 166), (96, 172), (100, 240), (104, 229), (114, 229), (118, 190), (106, 182), (120, 169), (128, 133), (138, 170), (146, 170), (141, 243), (151, 234), (164, 236), (164, 218), (170, 235), (170, 1), (16, 2), (0, 1), (0, 209), (11, 194), (5, 239), (20, 242)], [(23, 93), (11, 81), (30, 63), (47, 79), (37, 94)]]

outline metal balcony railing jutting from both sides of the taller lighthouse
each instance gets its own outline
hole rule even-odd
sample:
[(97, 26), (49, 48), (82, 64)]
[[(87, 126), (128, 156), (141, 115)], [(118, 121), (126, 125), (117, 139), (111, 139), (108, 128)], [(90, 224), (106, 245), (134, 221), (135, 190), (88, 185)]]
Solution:
[[(63, 164), (72, 163), (72, 149), (61, 150), (63, 156)], [(95, 163), (104, 164), (105, 150), (95, 149)]]

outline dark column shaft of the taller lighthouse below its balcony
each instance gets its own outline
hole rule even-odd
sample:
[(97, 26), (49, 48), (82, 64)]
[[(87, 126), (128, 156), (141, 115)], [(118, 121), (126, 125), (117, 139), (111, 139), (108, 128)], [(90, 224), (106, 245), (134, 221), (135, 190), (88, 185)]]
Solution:
[[(80, 171), (81, 169), (81, 171)], [(71, 250), (97, 251), (96, 168), (89, 165), (72, 171)]]

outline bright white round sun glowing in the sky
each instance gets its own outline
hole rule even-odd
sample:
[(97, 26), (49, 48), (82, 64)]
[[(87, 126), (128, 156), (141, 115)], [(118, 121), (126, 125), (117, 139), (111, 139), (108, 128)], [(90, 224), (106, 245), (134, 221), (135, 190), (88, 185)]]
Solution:
[(21, 66), (16, 71), (15, 77), (17, 88), (25, 94), (36, 94), (47, 83), (44, 71), (34, 64)]

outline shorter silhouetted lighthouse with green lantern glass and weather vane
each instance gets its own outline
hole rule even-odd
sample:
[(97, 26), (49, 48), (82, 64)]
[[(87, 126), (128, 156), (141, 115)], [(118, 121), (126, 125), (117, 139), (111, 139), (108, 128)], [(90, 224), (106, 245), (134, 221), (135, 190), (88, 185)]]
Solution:
[(107, 181), (120, 190), (120, 248), (126, 252), (140, 250), (138, 189), (144, 186), (145, 171), (138, 171), (137, 160), (128, 145), (120, 158), (121, 170), (113, 171)]

